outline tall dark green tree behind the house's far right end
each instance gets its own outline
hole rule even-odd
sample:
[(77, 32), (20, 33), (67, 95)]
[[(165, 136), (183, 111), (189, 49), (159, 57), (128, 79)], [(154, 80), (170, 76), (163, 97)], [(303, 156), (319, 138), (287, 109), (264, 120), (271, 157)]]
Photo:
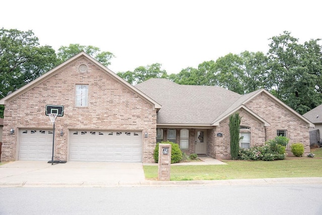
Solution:
[(300, 44), (284, 32), (271, 38), (268, 86), (272, 93), (300, 114), (322, 103), (319, 40)]

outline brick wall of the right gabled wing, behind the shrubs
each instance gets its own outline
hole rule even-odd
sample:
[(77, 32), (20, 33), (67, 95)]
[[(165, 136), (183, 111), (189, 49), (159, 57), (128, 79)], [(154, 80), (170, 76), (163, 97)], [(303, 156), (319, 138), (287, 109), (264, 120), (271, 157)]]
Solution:
[[(268, 139), (276, 136), (277, 130), (287, 130), (287, 137), (290, 138), (287, 149), (295, 142), (301, 142), (304, 145), (305, 153), (309, 153), (309, 134), (306, 123), (300, 120), (296, 115), (290, 113), (283, 106), (270, 99), (269, 96), (262, 93), (252, 99), (246, 106), (260, 117), (270, 123), (270, 126), (264, 127), (258, 119), (248, 114), (244, 109), (240, 109), (240, 125), (250, 127), (251, 147), (264, 145)], [(219, 123), (219, 126), (209, 130), (208, 154), (218, 159), (230, 159), (230, 136), (229, 136), (229, 117)], [(222, 137), (217, 137), (216, 133), (221, 132)], [(287, 152), (291, 154), (291, 152)]]

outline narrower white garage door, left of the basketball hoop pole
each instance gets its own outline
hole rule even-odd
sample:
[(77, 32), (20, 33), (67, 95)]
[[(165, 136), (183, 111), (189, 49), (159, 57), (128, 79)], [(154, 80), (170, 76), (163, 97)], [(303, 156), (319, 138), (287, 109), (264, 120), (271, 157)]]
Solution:
[(52, 130), (20, 129), (18, 160), (50, 161)]

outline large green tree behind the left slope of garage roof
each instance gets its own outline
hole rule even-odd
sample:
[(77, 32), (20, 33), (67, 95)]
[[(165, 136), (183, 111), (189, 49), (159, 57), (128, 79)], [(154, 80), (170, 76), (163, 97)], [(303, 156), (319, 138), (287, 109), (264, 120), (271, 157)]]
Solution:
[[(32, 31), (0, 29), (1, 97), (35, 80), (57, 64), (55, 50), (40, 46)], [(1, 107), (0, 117), (3, 117)]]

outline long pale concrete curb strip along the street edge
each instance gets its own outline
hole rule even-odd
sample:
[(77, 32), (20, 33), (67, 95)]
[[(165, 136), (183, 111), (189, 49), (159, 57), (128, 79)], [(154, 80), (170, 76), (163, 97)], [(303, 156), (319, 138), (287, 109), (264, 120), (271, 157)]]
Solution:
[(257, 184), (322, 184), (322, 177), (307, 178), (259, 178), (199, 181), (0, 181), (0, 187), (138, 187), (138, 186), (220, 186), (220, 185), (257, 185)]

